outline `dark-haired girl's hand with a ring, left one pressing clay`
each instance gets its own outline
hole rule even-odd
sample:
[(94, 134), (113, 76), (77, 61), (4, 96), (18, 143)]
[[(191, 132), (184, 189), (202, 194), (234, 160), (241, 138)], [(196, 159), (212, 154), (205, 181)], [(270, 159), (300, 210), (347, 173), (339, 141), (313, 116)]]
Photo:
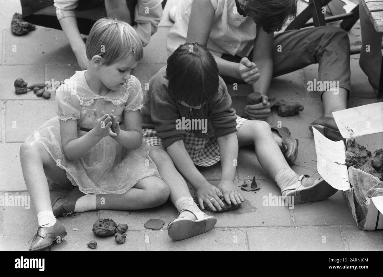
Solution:
[(221, 198), (223, 198), (221, 191), (209, 183), (197, 190), (197, 200), (201, 210), (205, 209), (205, 207), (203, 207), (203, 202), (205, 202), (213, 212), (216, 212), (217, 209), (221, 211), (222, 207), (225, 206)]

